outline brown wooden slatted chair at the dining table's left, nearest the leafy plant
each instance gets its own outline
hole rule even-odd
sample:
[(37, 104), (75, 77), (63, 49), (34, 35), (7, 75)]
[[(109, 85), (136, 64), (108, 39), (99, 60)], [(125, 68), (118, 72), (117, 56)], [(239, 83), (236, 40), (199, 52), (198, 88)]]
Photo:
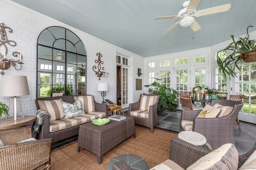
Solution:
[(203, 108), (196, 105), (193, 106), (190, 94), (179, 93), (179, 98), (182, 109), (200, 110)]

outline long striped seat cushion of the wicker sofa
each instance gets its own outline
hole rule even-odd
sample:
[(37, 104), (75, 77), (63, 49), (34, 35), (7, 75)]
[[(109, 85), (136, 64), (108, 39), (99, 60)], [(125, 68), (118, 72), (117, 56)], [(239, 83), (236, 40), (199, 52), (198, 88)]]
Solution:
[(94, 119), (106, 117), (105, 112), (89, 112), (85, 115), (72, 117), (70, 119), (59, 119), (55, 121), (51, 121), (50, 132), (66, 129), (69, 127), (73, 127), (76, 125), (80, 125), (82, 123), (93, 121)]

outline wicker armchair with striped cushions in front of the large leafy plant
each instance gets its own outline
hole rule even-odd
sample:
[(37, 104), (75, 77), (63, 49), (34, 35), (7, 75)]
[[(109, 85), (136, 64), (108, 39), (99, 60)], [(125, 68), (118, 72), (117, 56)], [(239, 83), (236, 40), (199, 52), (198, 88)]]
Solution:
[(158, 123), (158, 99), (158, 94), (141, 94), (139, 101), (129, 104), (128, 108), (128, 116), (134, 117), (135, 124), (149, 127), (151, 133)]

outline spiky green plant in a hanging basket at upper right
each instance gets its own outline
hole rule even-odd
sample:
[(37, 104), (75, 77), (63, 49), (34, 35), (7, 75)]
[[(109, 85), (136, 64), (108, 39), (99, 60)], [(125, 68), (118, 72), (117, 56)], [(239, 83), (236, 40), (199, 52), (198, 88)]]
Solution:
[[(217, 53), (217, 63), (220, 72), (222, 71), (225, 78), (226, 74), (232, 77), (236, 76), (235, 68), (238, 68), (240, 71), (239, 62), (249, 63), (256, 61), (256, 40), (249, 39), (248, 28), (247, 35), (244, 38), (238, 37), (238, 41), (234, 40), (234, 35), (230, 36), (233, 42)], [(222, 61), (221, 53), (226, 53), (226, 51), (231, 51), (231, 54)], [(231, 67), (232, 65), (234, 66)]]

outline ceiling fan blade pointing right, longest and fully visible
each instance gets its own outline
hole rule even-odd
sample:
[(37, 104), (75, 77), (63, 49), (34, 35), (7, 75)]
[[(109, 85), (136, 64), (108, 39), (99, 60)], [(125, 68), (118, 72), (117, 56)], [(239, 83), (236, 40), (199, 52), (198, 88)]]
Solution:
[[(215, 14), (219, 12), (225, 12), (225, 11), (228, 11), (230, 8), (231, 8), (231, 4), (224, 4), (224, 5), (200, 10), (200, 11), (197, 11), (196, 13), (198, 13), (199, 16), (206, 16), (206, 15)], [(197, 16), (198, 14), (195, 14), (195, 16)]]

